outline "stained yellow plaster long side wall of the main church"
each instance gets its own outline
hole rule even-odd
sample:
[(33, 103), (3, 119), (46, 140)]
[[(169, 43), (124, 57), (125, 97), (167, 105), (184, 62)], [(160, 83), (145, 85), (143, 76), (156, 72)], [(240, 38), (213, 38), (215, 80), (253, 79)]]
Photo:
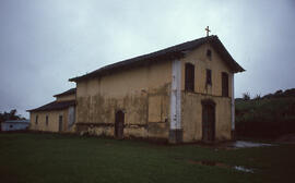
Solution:
[(170, 62), (158, 62), (76, 83), (79, 132), (114, 136), (125, 111), (125, 136), (167, 138)]

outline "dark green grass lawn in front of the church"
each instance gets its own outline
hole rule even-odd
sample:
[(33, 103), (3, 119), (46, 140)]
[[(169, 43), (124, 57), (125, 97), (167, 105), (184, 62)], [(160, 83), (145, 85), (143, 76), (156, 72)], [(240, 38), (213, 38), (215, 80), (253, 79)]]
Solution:
[[(200, 160), (255, 172), (193, 163)], [(226, 150), (59, 134), (0, 134), (0, 182), (295, 182), (295, 145)]]

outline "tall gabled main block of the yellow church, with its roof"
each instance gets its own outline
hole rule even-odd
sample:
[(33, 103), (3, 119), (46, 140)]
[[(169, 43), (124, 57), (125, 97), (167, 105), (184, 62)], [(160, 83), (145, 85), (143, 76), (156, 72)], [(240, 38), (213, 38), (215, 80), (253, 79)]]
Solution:
[(75, 82), (74, 132), (169, 143), (232, 139), (234, 74), (217, 36), (106, 65)]

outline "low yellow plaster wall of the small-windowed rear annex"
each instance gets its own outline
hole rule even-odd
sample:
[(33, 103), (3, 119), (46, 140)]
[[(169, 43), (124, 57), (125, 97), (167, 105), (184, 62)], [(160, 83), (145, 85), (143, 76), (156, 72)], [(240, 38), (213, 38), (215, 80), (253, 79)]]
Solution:
[[(38, 115), (38, 124), (36, 124), (36, 115)], [(48, 115), (48, 125), (46, 125), (46, 115)], [(30, 129), (34, 131), (59, 132), (59, 115), (62, 115), (63, 131), (68, 130), (68, 109), (58, 111), (36, 111), (31, 112)]]

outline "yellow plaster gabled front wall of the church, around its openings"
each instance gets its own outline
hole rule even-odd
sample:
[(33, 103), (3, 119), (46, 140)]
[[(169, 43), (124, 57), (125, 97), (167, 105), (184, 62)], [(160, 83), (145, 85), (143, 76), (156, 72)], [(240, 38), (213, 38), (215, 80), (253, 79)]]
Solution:
[[(206, 57), (211, 49), (212, 57)], [(185, 64), (194, 65), (194, 91), (185, 91)], [(206, 69), (212, 71), (212, 86), (206, 86)], [(222, 97), (222, 72), (228, 74), (228, 97)], [(202, 139), (202, 99), (212, 99), (215, 106), (215, 138), (216, 141), (231, 139), (231, 101), (232, 76), (229, 68), (220, 58), (210, 45), (187, 53), (182, 59), (182, 129), (184, 142)]]

